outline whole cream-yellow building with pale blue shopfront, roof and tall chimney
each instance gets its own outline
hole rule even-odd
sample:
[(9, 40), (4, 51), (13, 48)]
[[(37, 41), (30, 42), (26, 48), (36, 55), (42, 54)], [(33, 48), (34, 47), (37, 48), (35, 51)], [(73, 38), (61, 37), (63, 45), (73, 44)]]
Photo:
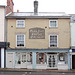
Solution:
[(70, 15), (13, 12), (7, 18), (6, 68), (70, 69)]

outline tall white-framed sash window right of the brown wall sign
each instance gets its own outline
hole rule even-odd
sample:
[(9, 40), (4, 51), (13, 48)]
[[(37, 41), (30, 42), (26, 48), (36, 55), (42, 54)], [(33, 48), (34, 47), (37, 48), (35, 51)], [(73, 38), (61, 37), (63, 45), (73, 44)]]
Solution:
[(57, 35), (50, 35), (49, 39), (50, 39), (49, 47), (58, 47), (58, 36)]

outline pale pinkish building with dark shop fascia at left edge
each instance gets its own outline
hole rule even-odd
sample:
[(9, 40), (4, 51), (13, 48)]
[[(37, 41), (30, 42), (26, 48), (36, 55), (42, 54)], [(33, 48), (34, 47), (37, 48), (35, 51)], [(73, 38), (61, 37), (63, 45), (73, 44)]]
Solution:
[(0, 68), (6, 64), (5, 6), (0, 5)]

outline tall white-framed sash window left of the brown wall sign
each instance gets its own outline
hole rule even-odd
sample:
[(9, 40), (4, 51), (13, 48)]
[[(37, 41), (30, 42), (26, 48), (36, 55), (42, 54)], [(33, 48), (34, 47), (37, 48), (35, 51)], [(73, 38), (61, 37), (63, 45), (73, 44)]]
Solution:
[(17, 35), (16, 36), (16, 46), (17, 47), (25, 46), (25, 35)]

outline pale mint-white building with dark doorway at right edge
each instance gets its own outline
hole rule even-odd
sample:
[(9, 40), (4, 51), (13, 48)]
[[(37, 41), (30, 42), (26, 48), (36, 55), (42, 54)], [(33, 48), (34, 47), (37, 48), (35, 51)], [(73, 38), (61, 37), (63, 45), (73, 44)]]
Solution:
[(75, 14), (71, 15), (71, 69), (75, 69)]

